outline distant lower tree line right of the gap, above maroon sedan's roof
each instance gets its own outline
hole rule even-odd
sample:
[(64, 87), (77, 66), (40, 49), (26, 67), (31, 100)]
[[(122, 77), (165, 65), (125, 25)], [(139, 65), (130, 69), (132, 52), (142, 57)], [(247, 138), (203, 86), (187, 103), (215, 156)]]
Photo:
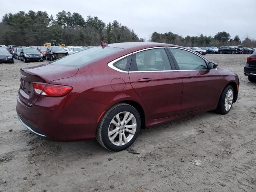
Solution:
[(244, 47), (256, 47), (256, 40), (250, 39), (248, 36), (241, 40), (238, 35), (231, 38), (230, 34), (223, 31), (218, 32), (214, 36), (204, 36), (200, 34), (198, 36), (186, 36), (185, 38), (174, 34), (172, 32), (168, 33), (158, 33), (154, 32), (150, 38), (151, 42), (161, 42), (168, 44), (176, 44), (185, 47), (196, 46), (196, 47), (206, 47), (206, 46), (237, 46), (242, 44)]

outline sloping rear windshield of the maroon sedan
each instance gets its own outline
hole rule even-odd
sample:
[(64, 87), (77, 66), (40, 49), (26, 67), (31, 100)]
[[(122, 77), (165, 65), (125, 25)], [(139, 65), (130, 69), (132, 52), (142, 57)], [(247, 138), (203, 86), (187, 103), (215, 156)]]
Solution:
[(120, 50), (122, 49), (116, 47), (93, 47), (55, 60), (52, 64), (62, 66), (82, 66)]

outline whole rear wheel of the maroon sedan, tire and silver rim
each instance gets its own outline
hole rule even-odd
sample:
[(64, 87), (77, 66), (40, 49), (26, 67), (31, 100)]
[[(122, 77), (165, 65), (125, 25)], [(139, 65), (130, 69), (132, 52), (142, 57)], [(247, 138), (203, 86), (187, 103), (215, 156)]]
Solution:
[[(132, 118), (127, 122), (127, 124), (124, 123), (122, 125), (122, 121), (126, 115), (126, 120), (130, 119), (131, 117)], [(116, 116), (119, 117), (119, 124)], [(113, 121), (114, 124), (112, 123)], [(115, 124), (119, 127), (115, 126)], [(133, 128), (127, 128), (126, 126), (129, 125), (134, 126)], [(119, 103), (112, 106), (101, 118), (97, 128), (96, 139), (99, 144), (107, 150), (122, 151), (131, 146), (136, 140), (138, 133), (140, 132), (140, 126), (140, 114), (138, 111), (129, 104)], [(110, 133), (111, 131), (112, 134)], [(111, 141), (110, 138), (113, 140)]]

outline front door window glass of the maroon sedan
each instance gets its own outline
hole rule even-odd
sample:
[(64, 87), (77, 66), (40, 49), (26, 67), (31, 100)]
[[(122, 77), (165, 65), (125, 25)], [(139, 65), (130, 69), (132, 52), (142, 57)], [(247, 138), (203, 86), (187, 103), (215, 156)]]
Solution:
[(172, 52), (180, 70), (202, 70), (207, 69), (206, 63), (200, 56), (177, 48), (169, 48)]

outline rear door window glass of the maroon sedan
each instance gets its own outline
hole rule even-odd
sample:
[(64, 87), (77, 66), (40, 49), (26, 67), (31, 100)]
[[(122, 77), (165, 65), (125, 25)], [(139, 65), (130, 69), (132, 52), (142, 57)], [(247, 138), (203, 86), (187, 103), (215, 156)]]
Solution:
[(172, 70), (164, 48), (155, 48), (133, 55), (131, 71), (164, 71)]

